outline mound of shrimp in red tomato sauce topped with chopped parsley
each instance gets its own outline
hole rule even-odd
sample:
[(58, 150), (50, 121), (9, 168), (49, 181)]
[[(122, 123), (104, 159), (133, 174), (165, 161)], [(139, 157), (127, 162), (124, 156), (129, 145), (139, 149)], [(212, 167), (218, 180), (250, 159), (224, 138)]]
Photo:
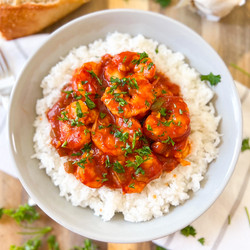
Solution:
[(77, 68), (47, 111), (65, 171), (91, 188), (140, 193), (188, 165), (190, 118), (180, 87), (147, 53), (106, 54)]

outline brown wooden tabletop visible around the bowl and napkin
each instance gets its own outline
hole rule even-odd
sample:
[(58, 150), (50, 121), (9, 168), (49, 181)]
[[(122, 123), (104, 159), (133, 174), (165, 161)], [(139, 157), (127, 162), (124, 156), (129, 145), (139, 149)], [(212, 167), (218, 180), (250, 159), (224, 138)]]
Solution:
[[(44, 30), (52, 32), (62, 24), (93, 11), (113, 8), (133, 8), (150, 10), (176, 19), (200, 34), (221, 56), (228, 66), (234, 79), (250, 87), (250, 78), (241, 71), (230, 66), (232, 63), (250, 72), (250, 1), (242, 7), (235, 8), (228, 16), (220, 22), (209, 22), (188, 8), (176, 8), (175, 1), (167, 8), (161, 8), (154, 0), (92, 0), (77, 11), (68, 15), (56, 24)], [(163, 30), (164, 32), (164, 30)], [(213, 63), (213, 62), (211, 62)], [(0, 163), (1, 164), (1, 163)], [(8, 167), (8, 166), (6, 166)], [(27, 193), (20, 182), (3, 172), (0, 172), (0, 207), (12, 208), (24, 204), (28, 200)], [(53, 234), (57, 236), (61, 249), (70, 249), (74, 245), (81, 245), (84, 238), (58, 225), (42, 211), (42, 218), (36, 223), (38, 226), (50, 225)], [(9, 249), (11, 244), (21, 245), (27, 236), (17, 234), (20, 227), (10, 219), (3, 217), (0, 223), (0, 249)], [(138, 232), (140, 233), (140, 232)], [(138, 244), (112, 244), (94, 242), (99, 249), (108, 250), (148, 250), (155, 249), (151, 242)], [(46, 249), (46, 248), (42, 248)]]

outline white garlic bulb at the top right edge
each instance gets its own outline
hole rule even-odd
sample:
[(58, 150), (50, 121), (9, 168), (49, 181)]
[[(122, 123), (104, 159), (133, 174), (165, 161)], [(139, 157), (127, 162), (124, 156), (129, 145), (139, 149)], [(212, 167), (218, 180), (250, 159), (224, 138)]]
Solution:
[(236, 6), (245, 4), (245, 0), (181, 0), (178, 7), (190, 5), (208, 20), (219, 21), (220, 18), (229, 14)]

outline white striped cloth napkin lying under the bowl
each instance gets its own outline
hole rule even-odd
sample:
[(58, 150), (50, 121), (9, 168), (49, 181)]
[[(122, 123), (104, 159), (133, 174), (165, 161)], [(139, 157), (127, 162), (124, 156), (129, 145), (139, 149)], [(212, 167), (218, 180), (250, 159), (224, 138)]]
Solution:
[[(16, 77), (25, 65), (28, 57), (42, 44), (47, 35), (34, 35), (10, 42), (0, 40), (0, 46)], [(0, 86), (1, 86), (0, 79)], [(242, 102), (243, 137), (250, 137), (250, 91), (236, 82)], [(16, 177), (15, 167), (10, 164), (10, 153), (7, 139), (7, 101), (5, 90), (1, 90), (0, 104), (0, 170)], [(5, 106), (5, 107), (4, 107)], [(232, 131), (233, 136), (233, 131)], [(236, 169), (224, 192), (218, 200), (191, 226), (196, 235), (186, 237), (180, 232), (165, 238), (154, 240), (157, 245), (171, 250), (235, 250), (250, 249), (250, 223), (247, 211), (250, 212), (250, 150), (240, 154)], [(202, 243), (204, 243), (202, 245)]]

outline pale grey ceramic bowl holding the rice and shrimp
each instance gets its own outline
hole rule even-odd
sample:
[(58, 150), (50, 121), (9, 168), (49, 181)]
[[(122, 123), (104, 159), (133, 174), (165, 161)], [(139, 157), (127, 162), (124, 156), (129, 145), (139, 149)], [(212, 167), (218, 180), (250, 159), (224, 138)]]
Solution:
[[(61, 56), (73, 47), (87, 45), (108, 32), (143, 34), (182, 52), (201, 73), (219, 72), (214, 88), (216, 109), (222, 116), (219, 157), (206, 174), (206, 183), (183, 205), (169, 214), (143, 223), (116, 216), (103, 222), (93, 211), (74, 207), (59, 196), (50, 178), (31, 159), (35, 105), (42, 97), (40, 82)], [(9, 111), (9, 139), (20, 180), (31, 198), (59, 224), (80, 235), (105, 242), (141, 242), (171, 234), (190, 224), (218, 198), (236, 164), (241, 145), (242, 117), (233, 79), (217, 53), (195, 32), (165, 16), (137, 10), (108, 10), (83, 16), (53, 33), (29, 60), (13, 90)]]

